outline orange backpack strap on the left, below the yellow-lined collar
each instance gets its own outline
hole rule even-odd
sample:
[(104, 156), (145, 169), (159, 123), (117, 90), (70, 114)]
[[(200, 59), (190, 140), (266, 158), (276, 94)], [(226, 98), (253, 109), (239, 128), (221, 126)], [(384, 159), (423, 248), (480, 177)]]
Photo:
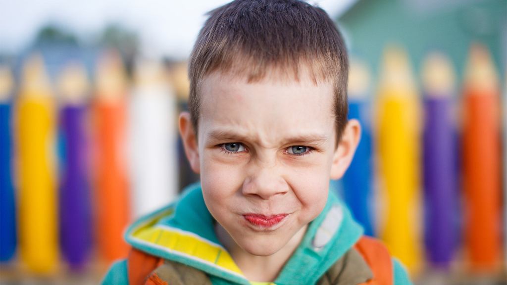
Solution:
[(127, 259), (129, 285), (144, 284), (148, 276), (163, 263), (163, 259), (131, 248)]

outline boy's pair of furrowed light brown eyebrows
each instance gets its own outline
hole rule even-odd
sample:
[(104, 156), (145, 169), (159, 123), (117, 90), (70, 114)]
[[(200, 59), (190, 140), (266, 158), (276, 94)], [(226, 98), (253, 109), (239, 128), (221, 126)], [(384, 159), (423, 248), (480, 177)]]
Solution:
[[(230, 140), (234, 142), (241, 141), (259, 141), (256, 136), (243, 135), (233, 131), (227, 130), (212, 130), (209, 132), (208, 137), (214, 140)], [(299, 134), (283, 139), (283, 144), (312, 144), (320, 145), (328, 140), (328, 136), (313, 133), (313, 134)]]

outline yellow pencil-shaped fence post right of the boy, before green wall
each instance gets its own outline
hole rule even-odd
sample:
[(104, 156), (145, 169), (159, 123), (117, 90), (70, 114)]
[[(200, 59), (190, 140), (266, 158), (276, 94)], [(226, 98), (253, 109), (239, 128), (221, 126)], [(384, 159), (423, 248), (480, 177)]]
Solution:
[(420, 266), (420, 103), (408, 57), (399, 48), (384, 53), (378, 90), (378, 152), (384, 199), (381, 237), (410, 272)]

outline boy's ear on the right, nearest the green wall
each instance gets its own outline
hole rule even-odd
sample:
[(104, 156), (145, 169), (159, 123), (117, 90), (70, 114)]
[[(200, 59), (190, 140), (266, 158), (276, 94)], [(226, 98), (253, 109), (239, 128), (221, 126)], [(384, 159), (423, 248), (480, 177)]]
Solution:
[(349, 120), (342, 137), (338, 143), (333, 156), (333, 164), (331, 166), (331, 179), (340, 179), (352, 162), (355, 150), (361, 138), (361, 125), (357, 120)]

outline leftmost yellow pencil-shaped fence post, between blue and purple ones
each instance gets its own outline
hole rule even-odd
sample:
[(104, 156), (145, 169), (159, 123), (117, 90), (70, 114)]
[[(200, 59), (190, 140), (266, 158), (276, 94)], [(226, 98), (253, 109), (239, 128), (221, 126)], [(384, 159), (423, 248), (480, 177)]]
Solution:
[(37, 273), (54, 270), (58, 256), (53, 116), (44, 62), (33, 56), (24, 66), (17, 125), (21, 256)]

